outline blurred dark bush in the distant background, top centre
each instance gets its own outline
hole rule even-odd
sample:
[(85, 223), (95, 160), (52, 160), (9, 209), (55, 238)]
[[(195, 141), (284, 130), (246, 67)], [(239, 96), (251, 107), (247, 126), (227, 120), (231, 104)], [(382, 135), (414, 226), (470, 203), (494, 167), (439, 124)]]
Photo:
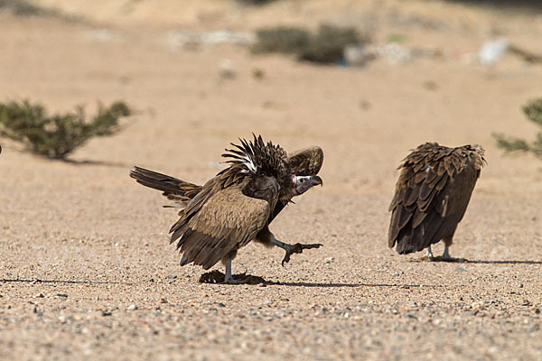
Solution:
[(350, 44), (369, 42), (353, 27), (321, 24), (315, 33), (302, 28), (279, 26), (257, 31), (256, 53), (294, 54), (298, 60), (332, 63), (342, 59)]

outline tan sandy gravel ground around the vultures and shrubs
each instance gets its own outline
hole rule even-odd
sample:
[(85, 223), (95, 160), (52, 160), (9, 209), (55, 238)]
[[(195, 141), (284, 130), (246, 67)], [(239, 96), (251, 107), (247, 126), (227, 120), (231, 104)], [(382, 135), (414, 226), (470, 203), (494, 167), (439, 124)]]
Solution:
[[(541, 96), (542, 66), (511, 55), (491, 67), (464, 61), (496, 36), (542, 52), (539, 16), (416, 1), (279, 1), (263, 13), (213, 1), (107, 2), (115, 6), (102, 12), (84, 5), (98, 1), (39, 3), (64, 3), (88, 21), (0, 14), (0, 99), (51, 110), (124, 99), (138, 114), (121, 134), (74, 153), (75, 163), (2, 141), (0, 358), (542, 358), (542, 163), (503, 156), (491, 137), (533, 138), (519, 107)], [(123, 5), (135, 7), (117, 21)], [(398, 32), (405, 46), (444, 56), (319, 67), (236, 45), (188, 51), (167, 42), (172, 30), (283, 20), (362, 27), (368, 14), (378, 19), (376, 42)], [(233, 79), (220, 77), (224, 60)], [(281, 250), (239, 253), (234, 272), (278, 285), (198, 283), (201, 268), (181, 268), (168, 245), (175, 212), (128, 171), (137, 164), (201, 183), (223, 148), (251, 132), (287, 150), (322, 146), (324, 186), (271, 228), (285, 242), (324, 247), (284, 268)], [(387, 247), (397, 164), (425, 141), (487, 149), (452, 247), (475, 262), (416, 262)]]

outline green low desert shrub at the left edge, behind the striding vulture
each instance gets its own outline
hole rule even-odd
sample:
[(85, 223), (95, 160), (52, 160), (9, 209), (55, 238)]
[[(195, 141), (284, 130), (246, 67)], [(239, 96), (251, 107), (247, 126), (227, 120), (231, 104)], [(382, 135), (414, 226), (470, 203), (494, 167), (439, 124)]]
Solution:
[(48, 116), (41, 104), (23, 102), (0, 103), (0, 136), (23, 143), (31, 152), (52, 159), (65, 159), (68, 154), (95, 136), (116, 134), (122, 129), (118, 119), (133, 111), (124, 102), (98, 106), (98, 113), (86, 121), (85, 110)]

